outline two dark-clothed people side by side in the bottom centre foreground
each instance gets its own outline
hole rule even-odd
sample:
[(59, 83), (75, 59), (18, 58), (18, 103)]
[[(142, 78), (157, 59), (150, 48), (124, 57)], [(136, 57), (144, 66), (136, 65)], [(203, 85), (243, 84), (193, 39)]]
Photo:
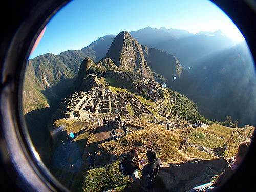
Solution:
[(132, 148), (130, 153), (124, 156), (122, 162), (126, 170), (125, 175), (129, 176), (130, 183), (135, 181), (144, 191), (149, 191), (150, 188), (153, 188), (153, 179), (159, 173), (161, 160), (157, 158), (156, 152), (153, 150), (147, 151), (146, 156), (148, 164), (143, 167), (141, 175), (145, 177), (147, 186), (142, 185), (141, 178), (138, 175), (138, 170), (141, 170), (142, 165), (140, 163), (139, 151), (136, 148)]

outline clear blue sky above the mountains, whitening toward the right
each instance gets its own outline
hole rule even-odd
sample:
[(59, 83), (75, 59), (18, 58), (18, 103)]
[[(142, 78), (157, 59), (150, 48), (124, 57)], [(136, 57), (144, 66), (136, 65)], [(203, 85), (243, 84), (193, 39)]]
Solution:
[(208, 0), (73, 0), (47, 24), (30, 58), (80, 50), (99, 37), (147, 26), (185, 29), (194, 34), (221, 29), (229, 38), (243, 39), (225, 13)]

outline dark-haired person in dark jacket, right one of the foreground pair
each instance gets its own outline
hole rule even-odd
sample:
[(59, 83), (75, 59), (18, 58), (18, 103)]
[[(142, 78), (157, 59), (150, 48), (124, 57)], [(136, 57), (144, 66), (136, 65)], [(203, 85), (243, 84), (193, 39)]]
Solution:
[(142, 169), (141, 175), (146, 179), (148, 188), (153, 188), (152, 180), (158, 175), (161, 166), (161, 160), (157, 158), (153, 150), (146, 153), (148, 164)]

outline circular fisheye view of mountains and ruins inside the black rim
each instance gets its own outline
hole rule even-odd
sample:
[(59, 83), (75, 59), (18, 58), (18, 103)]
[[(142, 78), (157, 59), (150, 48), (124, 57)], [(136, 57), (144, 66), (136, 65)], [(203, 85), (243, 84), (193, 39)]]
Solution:
[[(199, 3), (73, 1), (50, 20), (27, 62), (23, 112), (37, 158), (62, 185), (139, 190), (118, 167), (132, 148), (141, 169), (148, 150), (161, 159), (159, 190), (170, 189), (170, 163), (208, 160), (218, 165), (205, 165), (208, 181), (232, 163), (254, 131), (254, 62), (231, 20)], [(190, 174), (202, 184), (205, 173)]]

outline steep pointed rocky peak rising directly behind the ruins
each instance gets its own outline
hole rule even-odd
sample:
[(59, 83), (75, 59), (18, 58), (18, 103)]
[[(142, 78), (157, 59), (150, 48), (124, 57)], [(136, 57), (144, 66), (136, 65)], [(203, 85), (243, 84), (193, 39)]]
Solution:
[(110, 58), (119, 70), (138, 72), (153, 79), (141, 45), (127, 31), (122, 31), (115, 37), (105, 58)]

